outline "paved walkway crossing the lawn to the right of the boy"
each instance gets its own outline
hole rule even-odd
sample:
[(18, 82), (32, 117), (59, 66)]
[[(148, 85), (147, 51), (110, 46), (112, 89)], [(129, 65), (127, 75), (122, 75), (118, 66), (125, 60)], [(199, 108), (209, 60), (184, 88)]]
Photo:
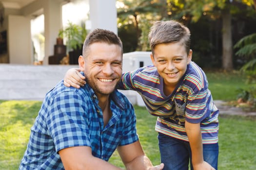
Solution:
[(227, 105), (224, 101), (214, 101), (220, 115), (256, 116), (256, 112), (245, 112), (242, 108)]

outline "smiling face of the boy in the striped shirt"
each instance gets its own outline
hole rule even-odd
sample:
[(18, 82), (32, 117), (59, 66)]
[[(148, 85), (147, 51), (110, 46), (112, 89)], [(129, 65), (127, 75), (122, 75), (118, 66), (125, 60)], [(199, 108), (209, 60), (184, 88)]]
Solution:
[(154, 56), (151, 54), (151, 60), (163, 78), (164, 85), (170, 89), (176, 87), (191, 58), (192, 50), (187, 54), (184, 45), (179, 42), (158, 44), (154, 49)]

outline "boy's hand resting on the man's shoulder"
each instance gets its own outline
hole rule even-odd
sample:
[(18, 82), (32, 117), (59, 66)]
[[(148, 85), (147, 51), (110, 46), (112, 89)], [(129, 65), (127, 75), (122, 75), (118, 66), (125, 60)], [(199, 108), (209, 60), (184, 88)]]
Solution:
[(85, 77), (79, 71), (78, 68), (70, 68), (64, 76), (63, 85), (67, 87), (73, 86), (75, 88), (85, 85)]

